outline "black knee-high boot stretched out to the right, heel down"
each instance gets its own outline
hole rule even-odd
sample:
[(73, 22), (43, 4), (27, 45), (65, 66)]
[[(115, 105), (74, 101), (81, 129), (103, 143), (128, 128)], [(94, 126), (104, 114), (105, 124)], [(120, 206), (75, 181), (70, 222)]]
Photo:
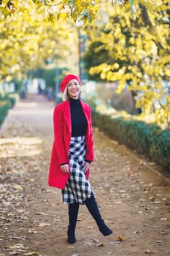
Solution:
[(95, 219), (101, 233), (104, 236), (111, 235), (112, 230), (110, 230), (109, 227), (107, 227), (107, 225), (104, 223), (104, 220), (101, 219), (101, 214), (99, 213), (95, 198), (90, 197), (87, 200), (85, 200), (85, 205), (87, 206), (88, 211), (90, 211), (90, 214), (92, 215), (93, 219)]

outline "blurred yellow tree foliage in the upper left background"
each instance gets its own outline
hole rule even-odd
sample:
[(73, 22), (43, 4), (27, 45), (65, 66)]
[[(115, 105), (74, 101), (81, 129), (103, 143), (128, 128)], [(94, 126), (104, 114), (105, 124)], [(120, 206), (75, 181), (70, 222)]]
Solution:
[(18, 1), (17, 7), (18, 12), (1, 16), (0, 81), (26, 76), (29, 69), (45, 67), (47, 59), (73, 69), (77, 31), (72, 22), (51, 23), (33, 1)]

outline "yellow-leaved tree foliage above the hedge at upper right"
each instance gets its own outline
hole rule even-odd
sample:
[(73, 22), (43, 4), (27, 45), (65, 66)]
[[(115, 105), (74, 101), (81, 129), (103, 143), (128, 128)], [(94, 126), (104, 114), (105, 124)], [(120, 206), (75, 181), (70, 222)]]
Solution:
[[(106, 13), (107, 22), (90, 29), (90, 46), (85, 55), (90, 75), (119, 80), (119, 93), (128, 84), (128, 89), (138, 96), (136, 107), (142, 108), (144, 115), (154, 113), (155, 122), (167, 122), (169, 93), (164, 82), (169, 80), (170, 69), (169, 23), (164, 23), (162, 13), (157, 11), (147, 11), (150, 26), (146, 26), (141, 14), (134, 21), (120, 7), (107, 9)], [(96, 56), (101, 56), (102, 50), (108, 57), (101, 63)], [(93, 63), (93, 57), (98, 64)]]

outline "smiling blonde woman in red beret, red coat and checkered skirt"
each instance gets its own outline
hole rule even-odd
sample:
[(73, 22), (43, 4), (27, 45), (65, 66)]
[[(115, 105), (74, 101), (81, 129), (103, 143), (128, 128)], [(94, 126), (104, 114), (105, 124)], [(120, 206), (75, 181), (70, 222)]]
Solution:
[(112, 234), (107, 227), (88, 181), (93, 162), (93, 129), (91, 109), (81, 99), (81, 82), (69, 74), (61, 82), (63, 102), (55, 107), (54, 143), (50, 161), (49, 185), (62, 189), (63, 203), (69, 204), (68, 242), (74, 244), (80, 204), (85, 204), (104, 236)]

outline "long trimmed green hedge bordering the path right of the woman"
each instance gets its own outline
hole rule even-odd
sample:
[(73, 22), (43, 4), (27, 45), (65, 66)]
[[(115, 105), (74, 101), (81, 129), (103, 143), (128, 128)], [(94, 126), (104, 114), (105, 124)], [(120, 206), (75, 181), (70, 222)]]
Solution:
[(93, 124), (120, 143), (144, 154), (152, 161), (170, 170), (170, 131), (143, 121), (112, 118), (96, 112), (92, 106)]

